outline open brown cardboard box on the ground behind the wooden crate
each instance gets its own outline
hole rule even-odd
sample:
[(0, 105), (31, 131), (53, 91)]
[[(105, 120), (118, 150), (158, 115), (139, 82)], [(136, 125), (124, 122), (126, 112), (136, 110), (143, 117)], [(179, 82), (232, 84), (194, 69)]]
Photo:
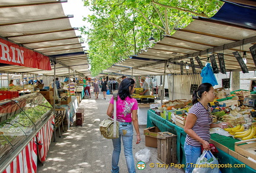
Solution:
[(145, 146), (157, 148), (157, 135), (158, 132), (161, 132), (158, 127), (151, 127), (144, 129), (144, 135), (145, 135)]

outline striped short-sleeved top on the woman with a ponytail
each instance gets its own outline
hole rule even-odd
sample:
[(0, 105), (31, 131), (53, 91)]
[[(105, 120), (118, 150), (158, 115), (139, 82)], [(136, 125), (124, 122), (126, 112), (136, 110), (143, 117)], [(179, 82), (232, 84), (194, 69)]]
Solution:
[[(188, 113), (194, 114), (197, 117), (196, 123), (192, 130), (204, 141), (209, 142), (210, 140), (210, 124), (212, 123), (212, 115), (210, 114), (210, 107), (208, 110), (205, 109), (200, 102), (194, 104), (189, 110)], [(185, 142), (192, 146), (201, 146), (201, 143), (196, 139), (191, 138), (187, 135)]]

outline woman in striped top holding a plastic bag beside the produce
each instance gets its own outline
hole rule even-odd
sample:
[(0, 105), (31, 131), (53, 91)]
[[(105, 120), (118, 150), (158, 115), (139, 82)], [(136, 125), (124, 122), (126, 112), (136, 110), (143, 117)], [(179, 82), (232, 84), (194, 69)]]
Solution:
[(197, 158), (201, 155), (201, 145), (206, 150), (210, 150), (210, 128), (227, 128), (226, 123), (212, 123), (209, 102), (215, 99), (214, 89), (210, 83), (202, 83), (194, 91), (193, 106), (188, 111), (184, 130), (187, 137), (184, 143), (186, 157), (185, 172), (192, 172)]

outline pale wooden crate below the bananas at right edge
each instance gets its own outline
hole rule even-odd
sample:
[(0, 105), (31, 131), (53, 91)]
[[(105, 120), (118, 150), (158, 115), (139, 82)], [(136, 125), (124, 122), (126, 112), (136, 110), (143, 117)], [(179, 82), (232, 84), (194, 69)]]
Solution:
[[(252, 142), (252, 143), (247, 143)], [(247, 144), (245, 144), (247, 143)], [(256, 138), (235, 142), (235, 152), (256, 160)]]

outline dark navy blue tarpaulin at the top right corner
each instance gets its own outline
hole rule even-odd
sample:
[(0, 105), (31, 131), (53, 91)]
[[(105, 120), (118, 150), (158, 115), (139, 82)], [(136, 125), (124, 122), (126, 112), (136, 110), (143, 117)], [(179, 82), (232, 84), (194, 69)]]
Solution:
[(256, 8), (225, 3), (211, 19), (256, 29)]

